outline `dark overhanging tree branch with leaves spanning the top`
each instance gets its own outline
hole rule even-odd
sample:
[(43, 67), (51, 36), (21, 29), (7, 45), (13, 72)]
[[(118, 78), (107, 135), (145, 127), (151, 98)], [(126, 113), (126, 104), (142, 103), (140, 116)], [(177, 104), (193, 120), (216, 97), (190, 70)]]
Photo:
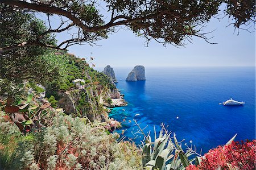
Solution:
[[(192, 36), (208, 41), (203, 28), (210, 18), (216, 16), (221, 5), (225, 5), (224, 16), (233, 19), (233, 26), (240, 28), (250, 22), (255, 23), (255, 1), (246, 0), (171, 0), (171, 1), (85, 1), (85, 0), (2, 0), (1, 13), (16, 10), (24, 13), (40, 12), (47, 15), (48, 30), (34, 35), (36, 41), (26, 42), (27, 46), (51, 44), (41, 43), (40, 39), (49, 33), (68, 32), (69, 38), (54, 48), (67, 49), (73, 44), (94, 44), (97, 40), (106, 39), (117, 31), (118, 26), (126, 26), (147, 41), (155, 39), (163, 44), (184, 45)], [(59, 27), (51, 26), (51, 16), (60, 16)], [(103, 15), (104, 14), (104, 15)], [(5, 17), (2, 15), (1, 17)], [(73, 33), (70, 30), (76, 30)], [(10, 47), (1, 47), (0, 52), (17, 48), (19, 42)], [(38, 43), (38, 44), (36, 44)]]

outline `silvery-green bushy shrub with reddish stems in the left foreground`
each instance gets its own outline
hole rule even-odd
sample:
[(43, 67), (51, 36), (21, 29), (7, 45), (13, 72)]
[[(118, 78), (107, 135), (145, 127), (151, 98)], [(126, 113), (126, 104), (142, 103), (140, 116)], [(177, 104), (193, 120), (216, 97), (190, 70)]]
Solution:
[[(2, 122), (0, 125), (14, 126)], [(5, 128), (0, 130), (0, 146), (13, 155), (8, 158), (9, 169), (142, 169), (141, 152), (134, 144), (117, 143), (104, 126), (85, 125), (80, 118), (56, 116), (51, 126), (31, 132), (32, 137), (26, 140), (27, 136), (16, 134), (19, 138), (12, 149), (6, 147), (1, 135), (11, 139), (13, 134)], [(15, 131), (18, 132), (16, 127)]]

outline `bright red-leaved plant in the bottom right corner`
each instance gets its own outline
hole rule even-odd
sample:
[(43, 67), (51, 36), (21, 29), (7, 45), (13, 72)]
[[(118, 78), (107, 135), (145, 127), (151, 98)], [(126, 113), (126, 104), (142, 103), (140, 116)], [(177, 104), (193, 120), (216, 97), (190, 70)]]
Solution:
[(210, 150), (201, 158), (199, 165), (189, 165), (186, 170), (200, 169), (243, 169), (256, 167), (256, 140), (246, 142), (231, 142)]

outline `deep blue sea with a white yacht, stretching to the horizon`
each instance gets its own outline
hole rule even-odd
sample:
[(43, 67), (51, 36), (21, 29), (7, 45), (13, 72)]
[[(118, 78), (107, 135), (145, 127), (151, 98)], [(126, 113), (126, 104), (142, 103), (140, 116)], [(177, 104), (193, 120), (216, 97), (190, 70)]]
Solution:
[[(122, 123), (126, 140), (140, 144), (144, 132), (154, 136), (161, 123), (178, 140), (196, 146), (203, 154), (223, 145), (237, 133), (236, 140), (255, 139), (255, 68), (146, 68), (146, 81), (126, 82), (132, 68), (114, 68), (117, 88), (128, 105), (115, 107), (110, 117)], [(223, 106), (229, 98), (244, 106)]]

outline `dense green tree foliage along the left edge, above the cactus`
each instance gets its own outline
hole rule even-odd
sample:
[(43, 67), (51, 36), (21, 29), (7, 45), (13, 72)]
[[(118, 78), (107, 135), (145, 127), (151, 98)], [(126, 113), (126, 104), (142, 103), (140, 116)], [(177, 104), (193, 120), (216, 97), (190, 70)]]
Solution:
[[(5, 11), (0, 18), (0, 45), (9, 46), (19, 42), (36, 42), (35, 35), (47, 30), (42, 20), (32, 13)], [(56, 40), (51, 34), (42, 36), (42, 44), (54, 45)], [(0, 93), (13, 96), (20, 91), (19, 84), (24, 80), (47, 84), (47, 81), (60, 80), (64, 76), (63, 55), (56, 55), (52, 49), (39, 46), (20, 47), (3, 53), (0, 57)]]

